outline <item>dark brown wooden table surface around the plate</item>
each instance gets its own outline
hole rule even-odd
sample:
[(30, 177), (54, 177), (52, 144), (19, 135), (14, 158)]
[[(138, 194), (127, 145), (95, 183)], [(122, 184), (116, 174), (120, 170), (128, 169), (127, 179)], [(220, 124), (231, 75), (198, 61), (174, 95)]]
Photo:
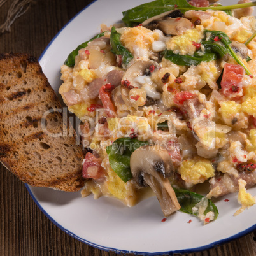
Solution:
[[(106, 0), (108, 1), (108, 0)], [(13, 0), (0, 8), (0, 24)], [(38, 0), (0, 35), (0, 53), (39, 57), (58, 31), (92, 0)], [(1, 139), (0, 139), (1, 140)], [(24, 183), (0, 164), (0, 255), (116, 255), (85, 245), (39, 210)], [(255, 233), (190, 255), (256, 255)]]

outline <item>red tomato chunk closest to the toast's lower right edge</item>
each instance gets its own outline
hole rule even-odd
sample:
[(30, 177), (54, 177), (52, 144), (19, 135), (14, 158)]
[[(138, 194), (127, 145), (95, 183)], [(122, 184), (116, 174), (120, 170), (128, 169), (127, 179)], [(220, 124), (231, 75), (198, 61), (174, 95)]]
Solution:
[(104, 176), (105, 170), (101, 167), (101, 159), (88, 152), (83, 159), (83, 178), (99, 179)]

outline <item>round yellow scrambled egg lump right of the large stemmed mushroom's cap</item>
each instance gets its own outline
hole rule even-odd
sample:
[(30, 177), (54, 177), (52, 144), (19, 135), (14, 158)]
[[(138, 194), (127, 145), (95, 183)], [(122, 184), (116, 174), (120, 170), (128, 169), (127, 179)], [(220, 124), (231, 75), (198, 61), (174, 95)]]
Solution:
[(187, 183), (198, 184), (203, 183), (215, 174), (215, 169), (209, 160), (203, 157), (195, 157), (194, 159), (184, 160), (178, 168), (182, 180)]

